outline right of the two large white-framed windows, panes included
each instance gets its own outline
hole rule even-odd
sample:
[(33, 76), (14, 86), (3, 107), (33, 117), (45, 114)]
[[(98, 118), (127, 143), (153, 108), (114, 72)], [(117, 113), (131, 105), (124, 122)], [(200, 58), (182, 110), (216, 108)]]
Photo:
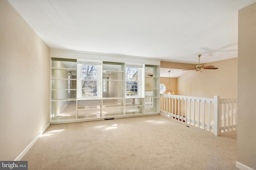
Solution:
[(126, 64), (126, 97), (141, 97), (143, 96), (142, 76), (144, 75), (142, 69), (143, 65)]

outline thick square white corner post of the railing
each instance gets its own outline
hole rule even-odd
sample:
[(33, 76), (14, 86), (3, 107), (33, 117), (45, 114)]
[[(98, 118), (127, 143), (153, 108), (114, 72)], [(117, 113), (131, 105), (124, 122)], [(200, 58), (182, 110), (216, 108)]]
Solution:
[(214, 96), (214, 132), (215, 136), (220, 136), (220, 96)]

